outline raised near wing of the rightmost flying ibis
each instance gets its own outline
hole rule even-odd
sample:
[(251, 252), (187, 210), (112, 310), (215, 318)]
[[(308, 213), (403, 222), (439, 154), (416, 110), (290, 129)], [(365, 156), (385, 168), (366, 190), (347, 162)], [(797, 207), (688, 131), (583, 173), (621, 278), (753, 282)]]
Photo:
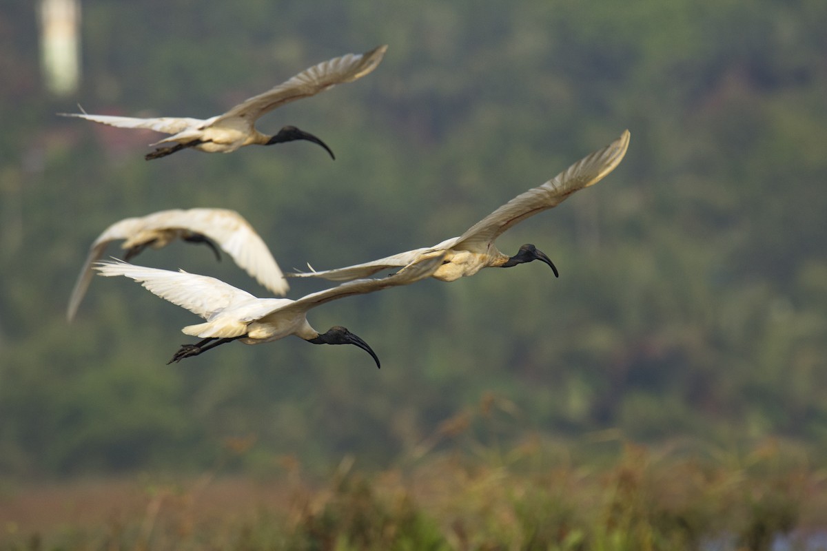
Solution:
[(572, 164), (562, 173), (538, 188), (529, 189), (485, 216), (460, 236), (457, 249), (485, 252), (488, 245), (514, 224), (538, 212), (557, 207), (566, 197), (579, 189), (600, 182), (623, 160), (629, 147), (629, 131), (602, 150)]

